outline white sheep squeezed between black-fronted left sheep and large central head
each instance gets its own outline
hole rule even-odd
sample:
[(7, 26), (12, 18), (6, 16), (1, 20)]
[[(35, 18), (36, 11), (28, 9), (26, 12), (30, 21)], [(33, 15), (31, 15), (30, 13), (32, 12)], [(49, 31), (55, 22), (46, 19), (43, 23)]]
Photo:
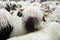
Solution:
[(12, 23), (14, 29), (10, 34), (10, 37), (26, 34), (25, 27), (22, 26), (22, 13), (17, 10), (13, 10), (12, 13), (13, 14), (11, 15), (10, 22)]

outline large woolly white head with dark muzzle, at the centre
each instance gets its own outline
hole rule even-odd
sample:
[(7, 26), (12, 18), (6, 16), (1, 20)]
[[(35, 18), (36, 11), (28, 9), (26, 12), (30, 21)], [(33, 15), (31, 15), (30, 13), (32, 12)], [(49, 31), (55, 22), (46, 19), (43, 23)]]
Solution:
[(28, 7), (22, 13), (23, 23), (28, 32), (40, 29), (40, 22), (42, 21), (43, 13), (38, 7)]

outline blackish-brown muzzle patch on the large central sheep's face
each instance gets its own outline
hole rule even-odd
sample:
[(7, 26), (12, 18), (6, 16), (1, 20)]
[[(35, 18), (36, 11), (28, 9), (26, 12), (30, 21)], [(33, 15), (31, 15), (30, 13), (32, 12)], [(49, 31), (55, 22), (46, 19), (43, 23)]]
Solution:
[(29, 17), (26, 21), (25, 28), (28, 32), (36, 31), (35, 25), (38, 24), (38, 20), (36, 18)]

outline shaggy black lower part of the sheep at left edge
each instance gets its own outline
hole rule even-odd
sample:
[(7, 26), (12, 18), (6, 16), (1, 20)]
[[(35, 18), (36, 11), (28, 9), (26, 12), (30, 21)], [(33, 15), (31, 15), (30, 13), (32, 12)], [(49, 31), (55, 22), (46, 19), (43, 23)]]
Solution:
[(9, 23), (5, 28), (2, 27), (0, 30), (0, 40), (8, 39), (12, 30), (13, 30), (13, 27)]

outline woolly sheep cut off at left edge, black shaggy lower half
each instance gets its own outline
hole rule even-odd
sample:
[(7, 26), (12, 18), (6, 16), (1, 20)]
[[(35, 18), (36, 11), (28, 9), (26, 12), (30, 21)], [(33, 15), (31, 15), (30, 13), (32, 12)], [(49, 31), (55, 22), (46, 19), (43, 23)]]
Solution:
[(9, 38), (11, 31), (13, 30), (10, 24), (10, 14), (5, 9), (0, 9), (0, 40)]

